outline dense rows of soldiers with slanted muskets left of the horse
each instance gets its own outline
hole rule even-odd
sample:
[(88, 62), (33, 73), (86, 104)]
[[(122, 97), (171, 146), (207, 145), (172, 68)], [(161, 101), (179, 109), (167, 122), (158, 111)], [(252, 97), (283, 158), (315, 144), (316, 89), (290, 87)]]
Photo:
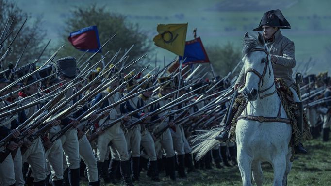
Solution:
[(213, 159), (236, 164), (233, 143), (195, 161), (188, 140), (223, 117), (233, 90), (225, 79), (165, 76), (166, 67), (138, 78), (146, 68), (124, 74), (138, 60), (119, 68), (123, 59), (79, 70), (66, 57), (1, 73), (0, 185), (78, 186), (85, 171), (90, 186), (132, 186), (144, 169), (159, 182), (162, 171), (175, 181)]

